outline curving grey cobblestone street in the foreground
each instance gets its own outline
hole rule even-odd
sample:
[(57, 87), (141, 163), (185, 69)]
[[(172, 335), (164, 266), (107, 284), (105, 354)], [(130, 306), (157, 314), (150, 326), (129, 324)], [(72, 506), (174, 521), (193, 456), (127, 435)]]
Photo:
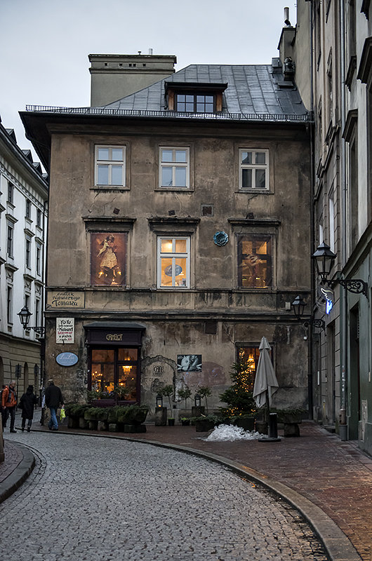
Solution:
[(36, 456), (0, 505), (7, 561), (326, 561), (296, 511), (205, 459), (112, 438), (6, 438)]

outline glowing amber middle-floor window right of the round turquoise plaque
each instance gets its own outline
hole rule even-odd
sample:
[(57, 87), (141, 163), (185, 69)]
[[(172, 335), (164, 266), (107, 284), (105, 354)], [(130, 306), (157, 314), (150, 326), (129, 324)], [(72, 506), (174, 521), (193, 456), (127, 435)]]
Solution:
[(239, 288), (272, 286), (272, 236), (238, 236)]

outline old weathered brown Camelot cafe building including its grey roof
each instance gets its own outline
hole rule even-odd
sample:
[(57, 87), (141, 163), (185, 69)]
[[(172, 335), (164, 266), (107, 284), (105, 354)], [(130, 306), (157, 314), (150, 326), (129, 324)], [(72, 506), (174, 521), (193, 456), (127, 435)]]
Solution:
[(154, 407), (173, 384), (177, 415), (178, 388), (209, 386), (214, 409), (265, 336), (275, 405), (306, 408), (312, 123), (281, 61), (21, 118), (51, 175), (46, 369), (66, 399)]

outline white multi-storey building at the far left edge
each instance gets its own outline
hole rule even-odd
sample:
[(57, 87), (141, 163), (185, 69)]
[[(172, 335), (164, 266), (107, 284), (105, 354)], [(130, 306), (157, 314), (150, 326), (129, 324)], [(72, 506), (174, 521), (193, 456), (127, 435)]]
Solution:
[(16, 379), (19, 393), (42, 382), (42, 331), (24, 330), (17, 314), (26, 306), (29, 326), (44, 325), (47, 203), (40, 163), (0, 121), (0, 384)]

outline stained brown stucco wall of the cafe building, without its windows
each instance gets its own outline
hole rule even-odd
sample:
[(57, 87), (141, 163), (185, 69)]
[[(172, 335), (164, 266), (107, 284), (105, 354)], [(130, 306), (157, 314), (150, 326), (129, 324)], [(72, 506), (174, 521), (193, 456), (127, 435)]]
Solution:
[[(95, 144), (126, 146), (124, 189), (95, 187)], [(190, 148), (190, 190), (159, 190), (159, 146)], [(269, 150), (267, 193), (239, 191), (239, 148)], [(305, 127), (124, 121), (54, 131), (48, 287), (77, 291), (81, 302), (77, 309), (47, 306), (48, 377), (66, 400), (83, 399), (89, 377), (83, 324), (140, 321), (141, 402), (154, 407), (159, 384), (207, 385), (215, 409), (230, 386), (238, 346), (257, 345), (265, 335), (280, 386), (274, 405), (305, 407), (307, 342), (290, 303), (310, 295), (310, 202)], [(212, 214), (204, 216), (201, 205), (212, 205)], [(221, 230), (229, 236), (222, 247), (213, 243)], [(90, 284), (90, 236), (100, 231), (128, 233), (125, 286)], [(158, 234), (190, 235), (190, 289), (157, 289)], [(272, 234), (272, 288), (238, 287), (237, 234)], [(55, 343), (55, 318), (64, 316), (75, 320), (74, 344)], [(217, 322), (216, 334), (205, 333), (207, 320)], [(77, 354), (76, 366), (55, 362), (63, 351)], [(177, 356), (189, 353), (202, 356), (201, 372), (177, 370)]]

